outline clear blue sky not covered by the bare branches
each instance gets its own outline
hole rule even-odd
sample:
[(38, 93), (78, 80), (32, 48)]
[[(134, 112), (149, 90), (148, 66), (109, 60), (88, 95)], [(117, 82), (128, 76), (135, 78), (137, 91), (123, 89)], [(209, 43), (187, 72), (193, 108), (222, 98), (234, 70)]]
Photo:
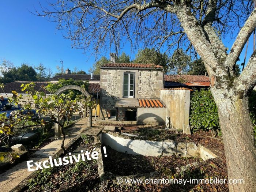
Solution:
[[(48, 5), (45, 0), (40, 2), (43, 6)], [(56, 23), (29, 12), (34, 11), (34, 7), (39, 10), (38, 1), (0, 1), (0, 60), (10, 60), (16, 66), (23, 62), (30, 65), (42, 63), (51, 67), (53, 72), (56, 72), (56, 65), (60, 65), (60, 60), (63, 60), (64, 69), (69, 68), (72, 71), (77, 67), (87, 72), (95, 62), (95, 56), (84, 54), (80, 49), (72, 49), (71, 41), (65, 39), (61, 31), (55, 30)], [(251, 37), (247, 60), (252, 54), (252, 41)], [(233, 42), (234, 39), (230, 37), (224, 39), (224, 44), (229, 49)], [(135, 57), (134, 53), (130, 54), (129, 44), (120, 50), (123, 51), (132, 59)], [(239, 63), (244, 60), (244, 51)], [(109, 58), (109, 52), (110, 50), (105, 50), (102, 55)]]

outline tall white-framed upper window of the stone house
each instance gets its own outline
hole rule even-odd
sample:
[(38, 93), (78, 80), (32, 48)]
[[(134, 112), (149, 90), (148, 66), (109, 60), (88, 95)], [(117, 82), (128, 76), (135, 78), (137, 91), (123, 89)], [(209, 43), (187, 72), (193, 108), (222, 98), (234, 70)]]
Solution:
[(134, 97), (134, 73), (124, 72), (123, 78), (123, 97), (133, 98)]

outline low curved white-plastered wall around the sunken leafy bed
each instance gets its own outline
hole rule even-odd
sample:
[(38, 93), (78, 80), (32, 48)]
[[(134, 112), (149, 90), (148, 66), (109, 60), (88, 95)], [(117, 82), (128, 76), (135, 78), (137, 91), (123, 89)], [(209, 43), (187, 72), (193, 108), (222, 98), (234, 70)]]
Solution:
[(199, 156), (203, 160), (215, 158), (217, 155), (212, 153), (207, 148), (195, 143), (189, 142), (175, 142), (172, 140), (166, 141), (147, 141), (147, 140), (132, 140), (125, 139), (118, 136), (113, 136), (109, 133), (100, 134), (101, 143), (104, 146), (109, 146), (121, 153), (132, 155), (146, 155), (146, 156), (171, 156), (180, 154), (183, 157)]

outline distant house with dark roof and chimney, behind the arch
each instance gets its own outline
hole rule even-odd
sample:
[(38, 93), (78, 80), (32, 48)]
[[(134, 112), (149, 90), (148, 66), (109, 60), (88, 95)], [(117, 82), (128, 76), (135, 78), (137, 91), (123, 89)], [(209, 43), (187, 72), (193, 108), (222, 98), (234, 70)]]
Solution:
[(95, 74), (71, 74), (69, 69), (66, 69), (65, 74), (56, 75), (53, 78), (50, 78), (49, 81), (51, 83), (56, 83), (59, 79), (74, 79), (74, 80), (82, 80), (89, 81), (89, 83), (100, 83), (100, 75)]

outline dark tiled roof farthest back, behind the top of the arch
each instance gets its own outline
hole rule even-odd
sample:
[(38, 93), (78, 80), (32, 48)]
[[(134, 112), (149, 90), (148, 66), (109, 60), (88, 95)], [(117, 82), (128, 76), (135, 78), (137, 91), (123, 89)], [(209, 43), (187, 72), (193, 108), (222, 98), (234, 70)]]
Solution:
[(100, 80), (101, 75), (93, 75), (93, 79), (91, 79), (91, 75), (84, 75), (84, 74), (62, 74), (62, 75), (56, 75), (53, 78), (50, 78), (50, 80), (58, 80), (58, 79), (74, 79), (74, 80)]

